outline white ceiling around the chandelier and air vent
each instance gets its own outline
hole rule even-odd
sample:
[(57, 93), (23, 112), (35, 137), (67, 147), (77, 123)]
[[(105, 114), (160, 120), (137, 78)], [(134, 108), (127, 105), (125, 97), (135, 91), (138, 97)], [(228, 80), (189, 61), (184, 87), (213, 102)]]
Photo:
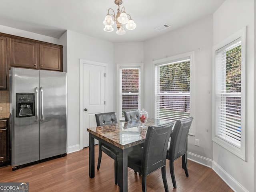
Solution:
[[(54, 38), (66, 30), (110, 42), (142, 42), (180, 28), (215, 12), (225, 0), (123, 0), (137, 24), (136, 29), (117, 35), (103, 31), (108, 8), (117, 11), (114, 0), (0, 0), (0, 25)], [(171, 27), (156, 31), (161, 25)]]

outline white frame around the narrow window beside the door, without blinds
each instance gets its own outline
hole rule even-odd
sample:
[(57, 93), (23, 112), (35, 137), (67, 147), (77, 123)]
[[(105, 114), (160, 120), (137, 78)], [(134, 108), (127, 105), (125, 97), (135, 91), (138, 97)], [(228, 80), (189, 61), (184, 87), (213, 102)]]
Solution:
[(122, 112), (122, 104), (121, 104), (121, 94), (122, 88), (120, 83), (120, 69), (132, 69), (132, 68), (140, 68), (140, 87), (139, 87), (139, 110), (141, 108), (141, 104), (144, 103), (144, 64), (143, 63), (123, 63), (116, 64), (116, 116), (120, 121), (123, 121), (124, 118), (121, 118)]

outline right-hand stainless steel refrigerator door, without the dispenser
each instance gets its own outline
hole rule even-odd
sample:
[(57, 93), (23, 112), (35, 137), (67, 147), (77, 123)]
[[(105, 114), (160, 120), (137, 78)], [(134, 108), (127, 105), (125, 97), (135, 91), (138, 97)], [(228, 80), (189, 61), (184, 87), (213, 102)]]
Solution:
[(39, 158), (67, 152), (67, 74), (39, 72)]

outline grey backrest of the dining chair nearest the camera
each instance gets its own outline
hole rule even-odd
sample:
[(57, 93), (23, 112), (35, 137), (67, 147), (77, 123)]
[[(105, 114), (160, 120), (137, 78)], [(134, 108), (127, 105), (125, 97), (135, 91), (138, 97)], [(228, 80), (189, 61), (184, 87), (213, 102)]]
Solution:
[(149, 126), (144, 141), (142, 175), (158, 170), (166, 165), (166, 152), (174, 122)]

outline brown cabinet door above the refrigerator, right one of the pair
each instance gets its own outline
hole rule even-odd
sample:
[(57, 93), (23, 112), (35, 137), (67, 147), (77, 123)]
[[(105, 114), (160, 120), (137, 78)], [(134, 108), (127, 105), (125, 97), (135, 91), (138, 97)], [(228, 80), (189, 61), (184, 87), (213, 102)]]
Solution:
[(60, 71), (62, 48), (40, 44), (40, 69)]

